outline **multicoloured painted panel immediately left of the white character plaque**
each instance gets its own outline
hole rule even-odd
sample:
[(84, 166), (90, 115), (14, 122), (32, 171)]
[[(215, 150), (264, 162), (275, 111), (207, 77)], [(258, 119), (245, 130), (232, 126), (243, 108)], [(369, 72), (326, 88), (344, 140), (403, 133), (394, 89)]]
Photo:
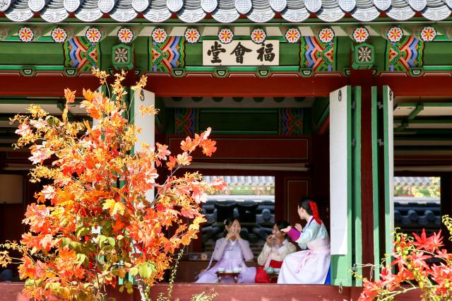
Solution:
[(153, 72), (171, 72), (174, 68), (184, 67), (184, 37), (168, 37), (165, 42), (150, 41), (150, 61)]

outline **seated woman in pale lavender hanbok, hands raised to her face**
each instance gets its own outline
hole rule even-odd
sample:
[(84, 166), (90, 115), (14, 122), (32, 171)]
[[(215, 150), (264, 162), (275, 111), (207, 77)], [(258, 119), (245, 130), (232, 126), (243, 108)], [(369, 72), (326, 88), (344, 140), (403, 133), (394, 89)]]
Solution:
[[(196, 283), (216, 283), (218, 282), (218, 276), (216, 272), (220, 270), (224, 271), (237, 271), (240, 270), (240, 274), (237, 279), (237, 283), (254, 283), (256, 277), (256, 268), (248, 267), (245, 261), (253, 259), (253, 252), (249, 248), (249, 242), (242, 240), (240, 237), (240, 222), (237, 218), (227, 218), (225, 220), (225, 228), (227, 230), (226, 237), (220, 238), (215, 242), (215, 249), (213, 250), (212, 259), (215, 259), (217, 264), (210, 267), (210, 264), (206, 271), (203, 271), (198, 275)], [(221, 279), (222, 283), (233, 283), (232, 277), (225, 277)]]

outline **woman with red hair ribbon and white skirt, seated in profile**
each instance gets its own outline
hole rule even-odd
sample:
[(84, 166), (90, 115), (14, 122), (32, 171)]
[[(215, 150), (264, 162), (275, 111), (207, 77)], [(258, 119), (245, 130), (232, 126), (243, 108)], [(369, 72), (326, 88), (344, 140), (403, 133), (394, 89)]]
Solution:
[(302, 228), (295, 225), (283, 229), (303, 251), (289, 254), (281, 266), (278, 283), (283, 284), (323, 284), (330, 267), (330, 237), (319, 218), (314, 201), (304, 199), (299, 202), (298, 215), (307, 224)]

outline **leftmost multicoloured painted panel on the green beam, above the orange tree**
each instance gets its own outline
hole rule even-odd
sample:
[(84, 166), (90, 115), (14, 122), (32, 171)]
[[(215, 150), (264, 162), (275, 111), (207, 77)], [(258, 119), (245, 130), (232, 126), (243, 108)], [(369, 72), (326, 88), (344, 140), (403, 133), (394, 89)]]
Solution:
[(73, 37), (64, 43), (64, 66), (91, 71), (100, 66), (100, 47), (86, 37)]

